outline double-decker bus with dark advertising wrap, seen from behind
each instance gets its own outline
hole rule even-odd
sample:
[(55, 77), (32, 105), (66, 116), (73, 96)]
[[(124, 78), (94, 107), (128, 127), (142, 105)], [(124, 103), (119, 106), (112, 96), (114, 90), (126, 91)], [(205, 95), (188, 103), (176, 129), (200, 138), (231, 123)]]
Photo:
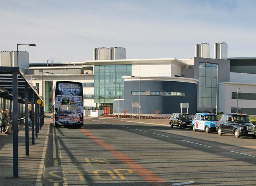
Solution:
[(84, 124), (82, 83), (57, 81), (52, 95), (54, 127), (81, 127)]

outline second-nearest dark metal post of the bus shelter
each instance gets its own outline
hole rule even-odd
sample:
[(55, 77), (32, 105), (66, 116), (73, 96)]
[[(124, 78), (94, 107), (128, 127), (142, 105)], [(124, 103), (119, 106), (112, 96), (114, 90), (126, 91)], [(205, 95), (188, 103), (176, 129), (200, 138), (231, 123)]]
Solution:
[(26, 156), (29, 156), (29, 137), (28, 137), (28, 84), (25, 84), (25, 149), (26, 149)]

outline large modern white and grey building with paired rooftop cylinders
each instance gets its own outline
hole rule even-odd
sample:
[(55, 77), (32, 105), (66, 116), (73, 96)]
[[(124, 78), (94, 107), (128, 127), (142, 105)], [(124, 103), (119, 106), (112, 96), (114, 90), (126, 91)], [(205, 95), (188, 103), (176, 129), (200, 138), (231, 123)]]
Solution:
[(126, 59), (125, 48), (102, 47), (94, 49), (94, 60), (30, 63), (24, 73), (44, 96), (45, 112), (51, 112), (53, 84), (70, 80), (84, 84), (85, 111), (132, 114), (132, 103), (140, 102), (142, 115), (170, 116), (181, 104), (190, 114), (218, 109), (256, 115), (256, 57), (228, 58), (226, 43), (214, 44), (214, 58), (208, 43), (195, 49), (190, 59)]

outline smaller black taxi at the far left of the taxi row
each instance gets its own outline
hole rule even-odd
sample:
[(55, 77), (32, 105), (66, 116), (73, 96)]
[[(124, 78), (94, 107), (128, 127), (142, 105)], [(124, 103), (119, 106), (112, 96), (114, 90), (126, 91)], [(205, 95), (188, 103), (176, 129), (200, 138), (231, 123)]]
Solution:
[(172, 113), (170, 127), (177, 126), (180, 129), (192, 127), (192, 117), (188, 113)]

